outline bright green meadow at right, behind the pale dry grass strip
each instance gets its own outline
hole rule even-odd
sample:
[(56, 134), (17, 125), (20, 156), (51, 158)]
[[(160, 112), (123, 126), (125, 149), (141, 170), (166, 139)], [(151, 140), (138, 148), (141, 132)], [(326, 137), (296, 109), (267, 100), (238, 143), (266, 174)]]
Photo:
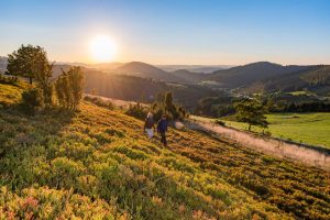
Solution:
[[(330, 113), (267, 114), (273, 136), (330, 148)], [(226, 125), (245, 130), (248, 124), (223, 120)], [(252, 131), (262, 129), (252, 127)]]

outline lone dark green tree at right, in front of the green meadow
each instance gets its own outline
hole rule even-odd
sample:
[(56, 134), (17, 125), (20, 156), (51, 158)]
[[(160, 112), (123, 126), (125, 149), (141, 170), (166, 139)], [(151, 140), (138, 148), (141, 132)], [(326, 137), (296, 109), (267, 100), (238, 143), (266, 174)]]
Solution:
[(266, 108), (255, 99), (244, 99), (234, 103), (237, 110), (237, 119), (240, 122), (249, 124), (249, 131), (251, 125), (261, 128), (268, 128), (265, 113)]

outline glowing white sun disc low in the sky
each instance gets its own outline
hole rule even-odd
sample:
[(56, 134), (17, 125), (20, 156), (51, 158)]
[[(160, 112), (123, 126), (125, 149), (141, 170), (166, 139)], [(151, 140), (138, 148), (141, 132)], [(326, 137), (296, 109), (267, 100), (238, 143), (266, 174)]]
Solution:
[(116, 44), (107, 35), (98, 35), (90, 42), (90, 52), (96, 62), (111, 62), (116, 55)]

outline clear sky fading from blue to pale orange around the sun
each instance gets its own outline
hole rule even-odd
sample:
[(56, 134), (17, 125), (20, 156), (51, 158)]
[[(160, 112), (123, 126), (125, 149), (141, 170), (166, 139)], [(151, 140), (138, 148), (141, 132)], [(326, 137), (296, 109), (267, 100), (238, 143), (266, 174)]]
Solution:
[(99, 35), (116, 62), (330, 64), (330, 1), (0, 1), (0, 56), (33, 44), (52, 61), (96, 63)]

